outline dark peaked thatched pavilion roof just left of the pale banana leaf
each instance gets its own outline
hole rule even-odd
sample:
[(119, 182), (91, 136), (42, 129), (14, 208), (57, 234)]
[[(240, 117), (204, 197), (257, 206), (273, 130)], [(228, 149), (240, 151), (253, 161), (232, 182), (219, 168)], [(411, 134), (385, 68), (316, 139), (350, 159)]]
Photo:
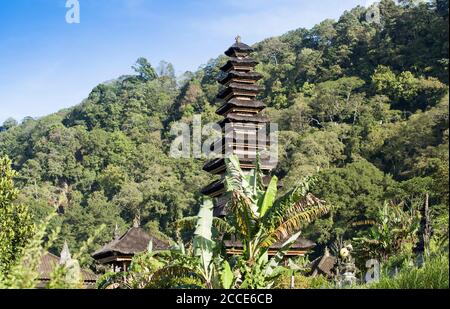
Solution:
[(147, 250), (150, 241), (153, 243), (153, 250), (167, 250), (170, 248), (169, 242), (150, 236), (141, 227), (132, 227), (121, 237), (114, 239), (103, 248), (94, 252), (92, 257), (98, 260), (115, 254), (135, 255)]

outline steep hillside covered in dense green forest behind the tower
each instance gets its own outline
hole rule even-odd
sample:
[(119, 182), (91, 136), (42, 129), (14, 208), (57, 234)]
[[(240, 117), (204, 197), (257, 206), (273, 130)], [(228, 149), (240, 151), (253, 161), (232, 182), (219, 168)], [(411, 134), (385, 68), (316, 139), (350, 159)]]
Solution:
[[(315, 176), (314, 193), (334, 207), (304, 232), (320, 244), (354, 236), (353, 223), (385, 201), (419, 207), (425, 193), (435, 233), (448, 228), (448, 1), (415, 3), (383, 0), (381, 23), (357, 7), (254, 46), (260, 99), (281, 130), (274, 174), (283, 190)], [(64, 240), (77, 248), (104, 223), (93, 250), (137, 213), (149, 230), (175, 237), (171, 223), (198, 211), (211, 178), (202, 160), (168, 155), (171, 124), (219, 119), (225, 61), (177, 79), (172, 65), (141, 58), (136, 75), (98, 85), (78, 106), (5, 122), (0, 156), (19, 172), (18, 202), (35, 220), (58, 211), (55, 248)]]

